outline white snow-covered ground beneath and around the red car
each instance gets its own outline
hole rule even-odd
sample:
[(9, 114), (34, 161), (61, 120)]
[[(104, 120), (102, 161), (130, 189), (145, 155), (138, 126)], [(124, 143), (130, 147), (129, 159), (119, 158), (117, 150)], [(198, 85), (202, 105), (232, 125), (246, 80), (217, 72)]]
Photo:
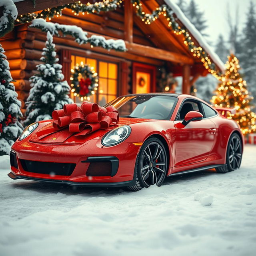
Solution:
[(235, 172), (140, 192), (10, 180), (0, 166), (1, 256), (255, 255), (256, 146)]

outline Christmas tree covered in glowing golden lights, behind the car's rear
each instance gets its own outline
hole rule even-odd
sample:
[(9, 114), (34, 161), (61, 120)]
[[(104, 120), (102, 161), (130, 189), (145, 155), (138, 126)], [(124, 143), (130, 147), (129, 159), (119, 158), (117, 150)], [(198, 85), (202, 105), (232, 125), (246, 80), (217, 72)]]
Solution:
[(240, 76), (239, 61), (234, 54), (228, 56), (226, 72), (212, 97), (214, 106), (236, 108), (236, 114), (230, 114), (228, 118), (236, 120), (242, 133), (248, 134), (256, 131), (256, 115), (250, 110), (253, 97), (248, 94), (246, 81)]

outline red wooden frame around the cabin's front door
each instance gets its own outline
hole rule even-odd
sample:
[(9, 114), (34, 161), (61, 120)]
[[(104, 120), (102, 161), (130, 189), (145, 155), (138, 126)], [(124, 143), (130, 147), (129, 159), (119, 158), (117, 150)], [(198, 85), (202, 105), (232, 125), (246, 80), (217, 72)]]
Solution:
[(156, 67), (132, 62), (132, 93), (136, 93), (136, 72), (145, 72), (150, 74), (150, 92), (156, 91)]

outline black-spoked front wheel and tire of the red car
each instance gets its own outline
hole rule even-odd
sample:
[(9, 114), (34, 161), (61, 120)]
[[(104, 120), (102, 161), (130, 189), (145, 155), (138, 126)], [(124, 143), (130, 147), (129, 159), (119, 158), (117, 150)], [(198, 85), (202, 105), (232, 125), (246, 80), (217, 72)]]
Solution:
[(158, 138), (149, 138), (143, 143), (136, 161), (136, 184), (128, 186), (128, 189), (138, 191), (152, 184), (161, 186), (167, 170), (168, 159), (164, 144)]

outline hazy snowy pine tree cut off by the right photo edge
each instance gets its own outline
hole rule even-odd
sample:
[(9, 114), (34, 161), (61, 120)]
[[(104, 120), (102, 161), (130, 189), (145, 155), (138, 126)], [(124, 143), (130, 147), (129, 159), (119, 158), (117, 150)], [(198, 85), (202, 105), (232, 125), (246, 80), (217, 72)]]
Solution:
[[(256, 99), (256, 14), (255, 5), (250, 2), (250, 8), (247, 14), (244, 36), (241, 40), (242, 53), (240, 54), (240, 63), (243, 68), (244, 78), (248, 83), (248, 88)], [(255, 102), (255, 101), (254, 101)]]

